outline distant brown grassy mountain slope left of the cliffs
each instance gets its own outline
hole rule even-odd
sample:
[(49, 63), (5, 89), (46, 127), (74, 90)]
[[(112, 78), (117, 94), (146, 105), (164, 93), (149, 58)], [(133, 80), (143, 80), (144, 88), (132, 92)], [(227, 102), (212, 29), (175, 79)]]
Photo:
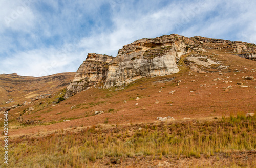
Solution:
[(41, 94), (52, 94), (66, 88), (75, 76), (75, 72), (59, 73), (43, 77), (19, 76), (13, 74), (0, 75), (0, 105), (6, 104), (9, 99), (13, 103), (23, 103)]

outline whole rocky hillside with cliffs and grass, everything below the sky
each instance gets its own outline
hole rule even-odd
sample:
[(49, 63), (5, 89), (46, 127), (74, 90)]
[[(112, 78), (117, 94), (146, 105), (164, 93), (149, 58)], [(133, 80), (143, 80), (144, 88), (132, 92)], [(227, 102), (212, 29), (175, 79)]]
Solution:
[[(19, 167), (254, 167), (256, 120), (246, 115), (256, 110), (255, 49), (172, 34), (136, 40), (115, 58), (89, 53), (76, 73), (3, 74), (3, 102), (33, 99), (8, 112), (18, 147), (11, 159)], [(52, 96), (34, 100), (41, 94)]]

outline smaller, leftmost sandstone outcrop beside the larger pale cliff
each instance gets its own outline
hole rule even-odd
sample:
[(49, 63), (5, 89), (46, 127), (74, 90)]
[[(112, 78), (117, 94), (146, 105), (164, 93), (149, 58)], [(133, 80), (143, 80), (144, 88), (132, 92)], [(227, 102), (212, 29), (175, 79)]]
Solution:
[(109, 62), (113, 59), (114, 57), (109, 55), (89, 53), (86, 60), (78, 68), (73, 81), (67, 87), (65, 97), (70, 97), (90, 86), (103, 83)]

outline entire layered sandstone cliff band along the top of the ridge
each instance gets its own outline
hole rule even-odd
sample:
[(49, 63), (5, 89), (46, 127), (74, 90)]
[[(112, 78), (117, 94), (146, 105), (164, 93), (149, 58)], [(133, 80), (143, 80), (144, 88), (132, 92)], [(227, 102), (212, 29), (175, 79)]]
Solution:
[(142, 77), (170, 75), (179, 72), (177, 63), (184, 56), (187, 66), (200, 69), (226, 69), (221, 61), (212, 60), (210, 50), (220, 50), (223, 53), (238, 55), (242, 58), (256, 60), (256, 45), (246, 42), (206, 38), (201, 36), (184, 37), (177, 34), (161, 37), (143, 38), (123, 46), (117, 56), (88, 54), (77, 70), (72, 83), (67, 87), (65, 97), (70, 97), (91, 86), (127, 85)]

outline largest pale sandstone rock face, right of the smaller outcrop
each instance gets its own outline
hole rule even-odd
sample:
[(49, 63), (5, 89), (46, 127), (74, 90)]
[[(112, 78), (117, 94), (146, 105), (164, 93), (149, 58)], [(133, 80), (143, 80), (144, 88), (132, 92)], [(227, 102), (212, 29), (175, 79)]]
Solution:
[[(181, 55), (191, 52), (190, 44), (200, 42), (172, 34), (155, 39), (141, 39), (123, 46), (110, 62), (105, 87), (128, 84), (142, 77), (170, 75), (179, 72)], [(201, 46), (200, 48), (203, 48)]]

